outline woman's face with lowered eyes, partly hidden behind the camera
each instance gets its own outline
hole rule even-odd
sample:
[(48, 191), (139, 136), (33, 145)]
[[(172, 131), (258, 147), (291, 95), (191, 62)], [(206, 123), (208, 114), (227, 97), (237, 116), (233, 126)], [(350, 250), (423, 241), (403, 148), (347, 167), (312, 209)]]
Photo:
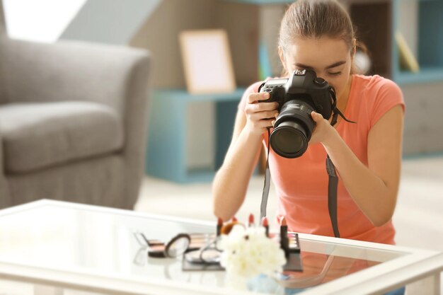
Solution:
[(340, 99), (348, 90), (352, 65), (351, 50), (344, 40), (321, 38), (297, 38), (288, 52), (279, 47), (280, 59), (288, 73), (294, 69), (313, 69), (318, 77), (335, 88)]

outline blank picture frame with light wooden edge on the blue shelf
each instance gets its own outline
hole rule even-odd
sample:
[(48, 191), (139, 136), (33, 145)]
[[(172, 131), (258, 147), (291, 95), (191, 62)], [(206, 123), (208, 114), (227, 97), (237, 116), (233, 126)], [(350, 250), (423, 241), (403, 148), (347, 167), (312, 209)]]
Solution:
[(188, 92), (229, 93), (236, 82), (225, 30), (185, 30), (179, 35)]

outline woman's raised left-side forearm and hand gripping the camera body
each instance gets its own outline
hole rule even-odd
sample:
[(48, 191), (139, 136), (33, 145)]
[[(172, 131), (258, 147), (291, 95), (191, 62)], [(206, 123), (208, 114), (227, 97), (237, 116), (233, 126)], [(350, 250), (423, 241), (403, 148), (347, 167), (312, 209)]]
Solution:
[(268, 93), (251, 93), (245, 111), (237, 112), (231, 144), (212, 183), (213, 211), (223, 220), (234, 216), (243, 204), (260, 156), (262, 134), (275, 120), (278, 103), (258, 103), (267, 98)]

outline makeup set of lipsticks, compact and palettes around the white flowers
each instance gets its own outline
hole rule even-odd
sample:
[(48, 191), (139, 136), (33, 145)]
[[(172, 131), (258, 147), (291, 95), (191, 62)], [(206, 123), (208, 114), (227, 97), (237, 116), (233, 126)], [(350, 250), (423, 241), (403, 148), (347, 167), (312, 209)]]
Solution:
[[(147, 246), (149, 258), (177, 258), (183, 255), (183, 270), (223, 270), (219, 264), (222, 251), (217, 248), (219, 236), (229, 234), (238, 224), (245, 226), (235, 217), (226, 223), (219, 218), (215, 233), (179, 233), (166, 243), (148, 239), (139, 232), (134, 233), (134, 236), (140, 245)], [(247, 226), (255, 226), (253, 214), (249, 215)], [(265, 228), (268, 238), (280, 243), (287, 259), (284, 270), (301, 271), (299, 236), (297, 233), (288, 232), (286, 219), (280, 219), (280, 234), (269, 232), (267, 217), (263, 217), (260, 226)]]

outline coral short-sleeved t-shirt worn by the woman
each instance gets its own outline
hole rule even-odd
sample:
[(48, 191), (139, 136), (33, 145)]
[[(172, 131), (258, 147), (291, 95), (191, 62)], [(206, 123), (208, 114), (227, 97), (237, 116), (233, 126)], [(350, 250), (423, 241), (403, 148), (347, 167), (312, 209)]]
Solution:
[[(244, 110), (249, 93), (258, 92), (261, 82), (251, 85), (243, 94), (238, 108)], [(336, 129), (359, 160), (368, 166), (367, 138), (369, 130), (388, 110), (405, 105), (400, 88), (381, 76), (353, 75), (350, 97), (344, 115), (352, 124), (341, 120)], [(342, 110), (343, 111), (343, 110)], [(263, 133), (267, 147), (267, 132)], [(283, 158), (269, 154), (272, 181), (278, 196), (278, 212), (287, 219), (292, 231), (333, 236), (328, 212), (328, 173), (326, 151), (313, 144), (299, 158)], [(376, 243), (394, 243), (392, 221), (374, 226), (357, 207), (343, 182), (338, 182), (338, 229), (342, 238)]]

